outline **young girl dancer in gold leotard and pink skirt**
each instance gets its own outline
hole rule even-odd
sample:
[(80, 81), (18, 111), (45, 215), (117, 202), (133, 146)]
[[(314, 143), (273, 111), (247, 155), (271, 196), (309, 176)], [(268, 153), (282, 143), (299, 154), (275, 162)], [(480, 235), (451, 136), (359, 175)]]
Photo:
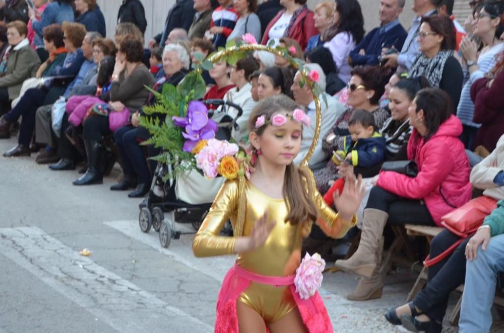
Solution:
[[(320, 295), (301, 299), (293, 281), (313, 221), (334, 238), (355, 225), (361, 178), (349, 176), (343, 193), (335, 194), (338, 214), (324, 203), (309, 169), (292, 163), (304, 115), (296, 108), (284, 95), (256, 106), (248, 124), (255, 171), (250, 180), (222, 186), (195, 236), (197, 257), (238, 254), (219, 293), (216, 332), (333, 331)], [(234, 237), (219, 235), (228, 219)]]

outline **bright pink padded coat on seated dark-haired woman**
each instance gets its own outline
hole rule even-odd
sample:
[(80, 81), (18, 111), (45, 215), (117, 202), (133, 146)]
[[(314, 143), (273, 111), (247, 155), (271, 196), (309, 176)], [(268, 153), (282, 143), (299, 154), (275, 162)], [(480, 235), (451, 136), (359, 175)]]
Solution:
[(472, 195), (471, 168), (459, 136), (462, 123), (451, 116), (427, 141), (413, 130), (408, 141), (408, 159), (416, 161), (418, 175), (410, 178), (382, 171), (378, 186), (407, 199), (423, 200), (434, 222), (468, 202)]

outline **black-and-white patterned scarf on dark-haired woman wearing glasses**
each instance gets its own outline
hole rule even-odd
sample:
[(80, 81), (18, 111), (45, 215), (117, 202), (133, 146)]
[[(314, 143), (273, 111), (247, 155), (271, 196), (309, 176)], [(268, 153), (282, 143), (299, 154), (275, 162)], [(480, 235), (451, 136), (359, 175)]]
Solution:
[(443, 69), (446, 61), (453, 55), (453, 50), (441, 50), (432, 59), (420, 53), (411, 66), (409, 77), (425, 76), (430, 87), (439, 88), (439, 82), (443, 77)]

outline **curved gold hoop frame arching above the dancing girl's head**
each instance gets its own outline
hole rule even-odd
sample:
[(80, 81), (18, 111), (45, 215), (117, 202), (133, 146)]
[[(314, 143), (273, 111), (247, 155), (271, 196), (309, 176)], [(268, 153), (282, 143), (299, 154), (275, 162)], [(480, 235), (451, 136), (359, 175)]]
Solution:
[[(249, 51), (266, 51), (273, 53), (275, 55), (284, 57), (284, 54), (282, 51), (275, 50), (269, 46), (266, 45), (259, 45), (259, 44), (242, 44), (240, 46), (231, 46), (228, 47), (224, 50), (218, 51), (214, 54), (212, 54), (207, 60), (215, 63), (219, 61), (222, 57), (228, 56), (232, 53), (235, 52), (249, 52)], [(299, 70), (299, 64), (295, 61), (292, 60), (292, 58), (286, 58), (289, 63)], [(315, 134), (313, 135), (313, 141), (311, 142), (311, 146), (308, 149), (308, 152), (306, 153), (306, 156), (304, 156), (303, 160), (301, 161), (300, 165), (308, 165), (308, 161), (313, 154), (313, 151), (315, 150), (315, 147), (317, 146), (317, 143), (319, 142), (319, 136), (320, 136), (320, 127), (321, 127), (321, 121), (322, 121), (322, 109), (321, 109), (321, 104), (320, 104), (320, 99), (317, 94), (314, 92), (314, 83), (308, 78), (308, 73), (305, 70), (300, 71), (301, 75), (304, 78), (304, 81), (308, 85), (308, 87), (311, 90), (311, 94), (313, 94), (313, 99), (315, 102), (315, 112), (317, 114), (317, 121), (315, 122)]]

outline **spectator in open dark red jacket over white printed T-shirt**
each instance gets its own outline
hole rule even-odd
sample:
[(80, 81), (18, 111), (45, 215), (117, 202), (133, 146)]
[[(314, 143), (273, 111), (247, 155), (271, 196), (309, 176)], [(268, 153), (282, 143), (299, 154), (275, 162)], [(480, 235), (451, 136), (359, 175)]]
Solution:
[(308, 39), (317, 34), (313, 12), (306, 7), (306, 0), (283, 0), (281, 5), (284, 10), (269, 22), (261, 44), (269, 45), (273, 40), (276, 46), (280, 38), (287, 37), (295, 40), (304, 50)]

